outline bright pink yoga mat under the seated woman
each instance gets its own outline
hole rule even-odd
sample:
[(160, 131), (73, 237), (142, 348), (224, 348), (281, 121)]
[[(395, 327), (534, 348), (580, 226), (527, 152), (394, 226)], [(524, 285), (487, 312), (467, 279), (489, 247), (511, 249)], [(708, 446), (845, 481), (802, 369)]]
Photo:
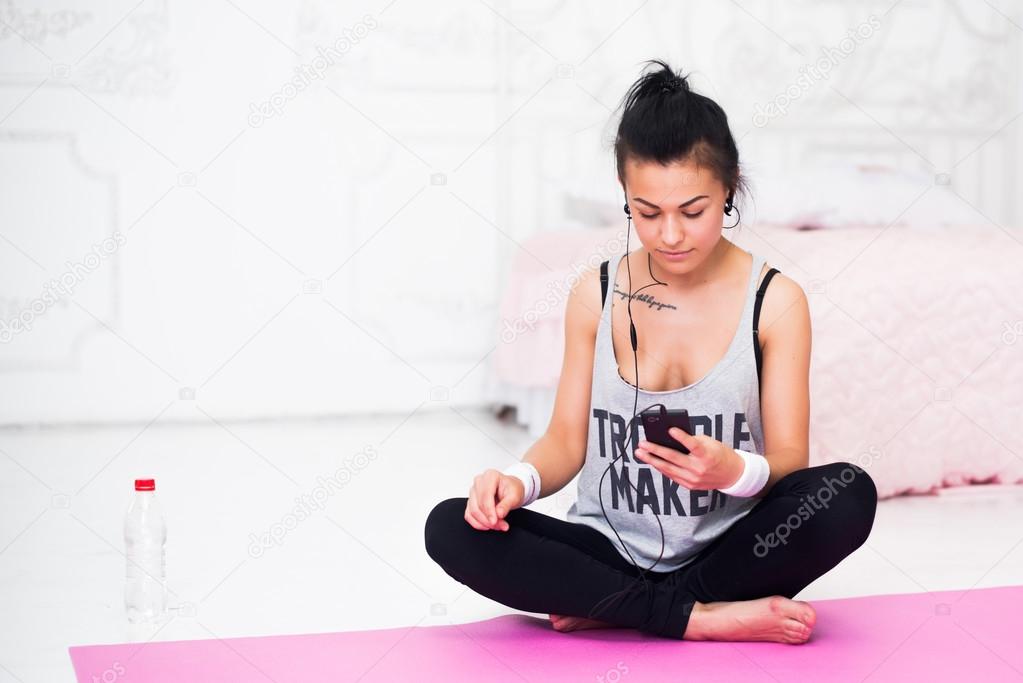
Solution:
[(513, 613), (457, 626), (84, 645), (70, 652), (82, 683), (1023, 678), (1023, 586), (810, 603), (817, 625), (801, 645), (680, 641), (628, 629), (559, 633), (546, 619)]

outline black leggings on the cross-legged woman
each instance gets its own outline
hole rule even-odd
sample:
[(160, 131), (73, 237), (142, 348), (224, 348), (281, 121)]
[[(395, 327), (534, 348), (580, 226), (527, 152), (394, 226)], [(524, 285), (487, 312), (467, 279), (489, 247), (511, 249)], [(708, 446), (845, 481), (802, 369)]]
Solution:
[(795, 597), (866, 541), (877, 501), (852, 463), (790, 472), (692, 562), (647, 581), (601, 532), (525, 507), (508, 512), (508, 531), (479, 531), (464, 519), (468, 499), (448, 498), (425, 536), (450, 577), (509, 607), (681, 639), (694, 602)]

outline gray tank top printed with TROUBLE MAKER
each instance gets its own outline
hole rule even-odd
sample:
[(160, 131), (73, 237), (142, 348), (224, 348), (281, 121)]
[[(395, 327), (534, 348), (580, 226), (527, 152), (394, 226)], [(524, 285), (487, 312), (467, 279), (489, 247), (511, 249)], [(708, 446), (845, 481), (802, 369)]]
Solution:
[[(635, 409), (638, 414), (655, 403), (663, 403), (667, 408), (685, 408), (695, 432), (710, 435), (732, 448), (763, 453), (759, 348), (754, 344), (753, 323), (755, 300), (759, 299), (757, 279), (764, 260), (756, 254), (751, 257), (753, 267), (746, 288), (746, 305), (724, 357), (703, 378), (687, 386), (668, 392), (639, 390)], [(672, 572), (692, 561), (700, 550), (745, 516), (760, 499), (728, 496), (716, 490), (691, 491), (636, 460), (633, 452), (646, 438), (641, 424), (633, 429), (626, 448), (635, 388), (619, 372), (611, 336), (612, 303), (621, 306), (627, 303), (626, 294), (615, 292), (615, 275), (622, 259), (620, 255), (610, 260), (608, 294), (596, 330), (586, 459), (579, 473), (578, 499), (569, 509), (567, 519), (602, 532), (622, 557), (629, 560), (631, 553), (641, 568)], [(764, 279), (761, 297), (774, 272), (771, 269)], [(756, 309), (759, 317), (759, 307)], [(627, 325), (627, 314), (623, 312), (623, 315)], [(620, 317), (619, 324), (621, 320)], [(638, 327), (636, 331), (642, 334)], [(628, 357), (632, 358), (631, 349)], [(641, 382), (642, 377), (639, 379)], [(608, 470), (609, 463), (618, 456), (621, 457), (614, 460)], [(597, 496), (602, 475), (604, 511)], [(605, 519), (605, 512), (614, 530)], [(661, 531), (655, 515), (664, 527), (663, 555)], [(622, 548), (615, 531), (624, 540), (629, 553)], [(661, 559), (657, 561), (659, 555)]]

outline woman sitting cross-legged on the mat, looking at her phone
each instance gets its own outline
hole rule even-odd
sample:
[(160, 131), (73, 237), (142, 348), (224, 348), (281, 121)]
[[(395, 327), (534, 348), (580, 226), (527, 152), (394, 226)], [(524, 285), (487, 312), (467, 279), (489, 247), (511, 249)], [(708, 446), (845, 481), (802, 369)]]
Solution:
[[(642, 246), (602, 264), (607, 297), (597, 271), (573, 287), (546, 432), (438, 503), (427, 551), (558, 631), (802, 643), (815, 613), (792, 598), (866, 540), (877, 490), (854, 464), (808, 466), (806, 297), (722, 238), (746, 189), (725, 113), (652, 63), (615, 144)], [(648, 406), (688, 411), (677, 446), (638, 439)], [(576, 474), (567, 520), (525, 507)]]

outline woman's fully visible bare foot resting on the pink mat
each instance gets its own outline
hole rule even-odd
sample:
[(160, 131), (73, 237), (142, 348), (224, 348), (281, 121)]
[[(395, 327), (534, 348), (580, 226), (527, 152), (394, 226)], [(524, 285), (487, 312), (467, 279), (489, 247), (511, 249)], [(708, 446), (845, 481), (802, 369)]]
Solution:
[(808, 602), (782, 595), (736, 602), (697, 602), (684, 640), (769, 640), (805, 643), (816, 612)]

